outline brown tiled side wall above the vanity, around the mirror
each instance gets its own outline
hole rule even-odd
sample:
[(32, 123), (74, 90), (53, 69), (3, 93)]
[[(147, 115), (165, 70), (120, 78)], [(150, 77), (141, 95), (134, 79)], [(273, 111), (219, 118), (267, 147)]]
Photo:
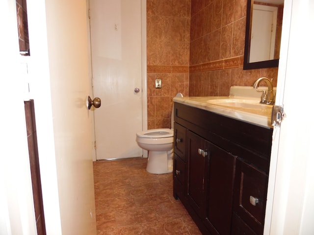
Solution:
[(228, 95), (231, 86), (273, 78), (278, 68), (243, 71), (247, 0), (192, 0), (189, 96)]

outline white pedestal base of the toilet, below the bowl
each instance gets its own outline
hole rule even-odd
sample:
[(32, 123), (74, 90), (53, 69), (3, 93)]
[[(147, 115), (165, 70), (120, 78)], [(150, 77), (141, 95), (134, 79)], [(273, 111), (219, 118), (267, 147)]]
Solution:
[(166, 174), (173, 170), (173, 156), (170, 151), (149, 151), (146, 170), (152, 174)]

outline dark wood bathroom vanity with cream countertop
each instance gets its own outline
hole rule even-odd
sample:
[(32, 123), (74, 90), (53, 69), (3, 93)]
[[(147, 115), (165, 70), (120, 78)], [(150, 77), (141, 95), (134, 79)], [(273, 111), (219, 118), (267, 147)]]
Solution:
[(235, 118), (249, 109), (199, 101), (174, 98), (173, 195), (204, 235), (262, 235), (270, 121)]

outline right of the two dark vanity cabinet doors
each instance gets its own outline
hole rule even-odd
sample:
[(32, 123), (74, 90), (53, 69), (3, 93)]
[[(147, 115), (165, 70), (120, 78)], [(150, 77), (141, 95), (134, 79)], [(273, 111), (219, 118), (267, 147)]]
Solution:
[(235, 156), (206, 141), (209, 155), (205, 224), (211, 234), (230, 235)]

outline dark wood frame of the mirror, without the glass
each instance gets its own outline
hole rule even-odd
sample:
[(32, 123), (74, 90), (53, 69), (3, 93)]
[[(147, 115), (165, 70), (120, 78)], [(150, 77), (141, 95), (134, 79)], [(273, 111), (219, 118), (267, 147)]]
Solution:
[(266, 60), (266, 61), (253, 62), (253, 63), (249, 62), (250, 61), (253, 1), (254, 0), (247, 0), (243, 70), (278, 67), (279, 59)]

